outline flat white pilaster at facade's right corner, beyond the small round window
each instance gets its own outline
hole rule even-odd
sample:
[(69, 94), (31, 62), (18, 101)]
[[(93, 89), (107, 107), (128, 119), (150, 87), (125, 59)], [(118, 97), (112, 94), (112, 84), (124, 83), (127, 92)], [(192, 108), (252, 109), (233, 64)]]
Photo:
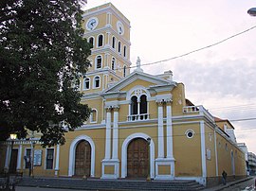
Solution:
[(202, 177), (207, 177), (206, 166), (206, 135), (205, 135), (205, 123), (200, 121), (200, 134), (201, 134), (201, 157), (202, 157)]

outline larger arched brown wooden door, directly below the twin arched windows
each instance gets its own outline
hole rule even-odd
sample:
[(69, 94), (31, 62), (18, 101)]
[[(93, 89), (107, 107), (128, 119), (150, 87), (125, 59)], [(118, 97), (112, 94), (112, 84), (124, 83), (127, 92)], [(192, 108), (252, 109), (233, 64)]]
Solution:
[(127, 148), (127, 177), (147, 178), (149, 173), (149, 146), (146, 140), (136, 138)]

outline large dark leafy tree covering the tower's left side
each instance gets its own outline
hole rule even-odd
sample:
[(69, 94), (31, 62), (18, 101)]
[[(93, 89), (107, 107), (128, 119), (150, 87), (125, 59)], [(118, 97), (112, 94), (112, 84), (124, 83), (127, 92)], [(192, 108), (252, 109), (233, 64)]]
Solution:
[[(90, 114), (77, 91), (90, 44), (82, 38), (85, 0), (1, 0), (0, 134), (42, 133), (43, 146), (64, 144)], [(65, 128), (62, 124), (66, 124)]]

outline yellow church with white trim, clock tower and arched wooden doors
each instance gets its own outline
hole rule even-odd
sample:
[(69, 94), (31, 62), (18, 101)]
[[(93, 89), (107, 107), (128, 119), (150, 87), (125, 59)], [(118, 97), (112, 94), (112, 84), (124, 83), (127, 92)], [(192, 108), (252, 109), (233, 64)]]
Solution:
[[(203, 185), (246, 176), (245, 154), (229, 120), (212, 116), (185, 96), (173, 72), (131, 72), (130, 21), (111, 3), (82, 15), (92, 44), (81, 78), (82, 103), (91, 115), (65, 134), (63, 146), (42, 148), (39, 134), (0, 145), (0, 170), (33, 176), (91, 179), (194, 180)], [(9, 158), (9, 153), (11, 159)], [(4, 160), (2, 160), (4, 159)], [(228, 179), (228, 180), (229, 180)]]

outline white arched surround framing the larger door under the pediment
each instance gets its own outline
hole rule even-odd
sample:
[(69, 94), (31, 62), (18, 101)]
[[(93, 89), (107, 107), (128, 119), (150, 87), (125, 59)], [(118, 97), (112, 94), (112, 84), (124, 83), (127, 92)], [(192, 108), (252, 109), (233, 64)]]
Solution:
[[(137, 132), (134, 134), (129, 135), (122, 143), (121, 147), (121, 178), (127, 177), (127, 148), (130, 142), (135, 138), (142, 138), (147, 140), (150, 136), (142, 133)], [(151, 137), (150, 137), (151, 138)], [(150, 176), (152, 179), (155, 178), (155, 143), (154, 140), (151, 138), (150, 143)]]

